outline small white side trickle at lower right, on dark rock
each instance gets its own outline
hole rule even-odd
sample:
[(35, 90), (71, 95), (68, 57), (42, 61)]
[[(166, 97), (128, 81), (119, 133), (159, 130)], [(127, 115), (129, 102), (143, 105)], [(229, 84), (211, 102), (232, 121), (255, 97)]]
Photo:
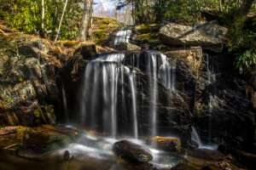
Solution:
[(198, 144), (198, 149), (201, 149), (201, 150), (217, 150), (218, 149), (217, 144), (203, 144), (195, 127), (192, 127), (191, 140), (194, 141), (196, 144)]

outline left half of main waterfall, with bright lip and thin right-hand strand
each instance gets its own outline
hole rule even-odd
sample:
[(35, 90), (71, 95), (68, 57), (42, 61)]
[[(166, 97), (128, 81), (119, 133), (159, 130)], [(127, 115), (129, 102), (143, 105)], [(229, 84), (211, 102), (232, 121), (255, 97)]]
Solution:
[[(118, 94), (124, 90), (124, 77), (128, 77), (131, 91), (131, 112), (133, 119), (133, 135), (138, 138), (137, 96), (133, 72), (121, 65), (125, 54), (103, 54), (100, 58), (86, 65), (84, 73), (83, 97), (81, 99), (82, 123), (88, 127), (102, 126), (104, 133), (115, 138), (117, 136)], [(119, 89), (119, 82), (122, 88)], [(122, 94), (125, 102), (125, 94)], [(102, 111), (100, 109), (102, 108)], [(102, 112), (102, 125), (96, 117)], [(90, 120), (84, 122), (84, 120)]]

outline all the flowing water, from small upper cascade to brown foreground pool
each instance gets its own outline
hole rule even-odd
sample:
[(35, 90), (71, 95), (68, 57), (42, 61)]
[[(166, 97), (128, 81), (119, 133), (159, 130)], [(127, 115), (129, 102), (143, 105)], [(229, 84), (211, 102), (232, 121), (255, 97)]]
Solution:
[[(130, 38), (131, 30), (118, 31), (114, 45), (129, 42)], [(125, 170), (127, 168), (119, 164), (118, 158), (112, 151), (113, 144), (121, 139), (140, 144), (150, 150), (153, 156), (150, 163), (154, 167), (170, 168), (177, 165), (177, 162), (182, 159), (181, 156), (172, 156), (170, 153), (159, 150), (155, 144), (148, 145), (143, 140), (145, 137), (155, 137), (159, 134), (157, 105), (159, 83), (170, 94), (175, 93), (176, 63), (157, 51), (144, 51), (143, 53), (145, 58), (143, 61), (141, 55), (134, 55), (130, 65), (125, 65), (125, 53), (123, 52), (101, 54), (86, 65), (79, 104), (79, 124), (80, 127), (87, 129), (86, 133), (83, 133), (75, 143), (68, 144), (67, 147), (45, 157), (50, 161), (48, 165), (42, 164), (42, 167), (47, 167), (49, 170), (81, 168)], [(138, 119), (137, 70), (144, 71), (148, 77), (148, 87), (145, 89), (148, 90), (150, 102), (148, 110), (150, 133), (146, 136), (140, 131), (141, 122)], [(62, 87), (61, 90), (63, 105), (67, 108), (65, 88)], [(124, 115), (128, 117), (127, 120), (131, 120), (128, 126), (125, 124), (127, 133), (119, 132), (119, 116)], [(90, 135), (91, 131), (97, 133)], [(192, 127), (191, 135), (192, 140), (199, 145), (200, 149), (212, 150), (212, 146), (202, 144), (195, 127)], [(68, 153), (68, 156), (66, 161), (63, 161), (65, 153)], [(26, 165), (29, 164), (26, 162)], [(33, 167), (32, 161), (30, 161), (30, 166)]]

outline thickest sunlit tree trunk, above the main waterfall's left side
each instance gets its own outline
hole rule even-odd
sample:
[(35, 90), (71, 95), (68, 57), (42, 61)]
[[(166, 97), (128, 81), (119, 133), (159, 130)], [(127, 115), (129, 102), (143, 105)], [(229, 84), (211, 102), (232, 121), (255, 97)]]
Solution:
[(79, 40), (85, 41), (89, 35), (93, 0), (84, 0), (84, 13), (81, 21)]

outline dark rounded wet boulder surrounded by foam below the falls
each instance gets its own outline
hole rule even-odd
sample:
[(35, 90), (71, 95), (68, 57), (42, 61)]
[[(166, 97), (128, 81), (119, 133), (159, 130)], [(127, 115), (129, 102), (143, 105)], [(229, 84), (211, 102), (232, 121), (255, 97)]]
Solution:
[(113, 152), (125, 161), (143, 163), (153, 159), (149, 150), (127, 140), (121, 140), (113, 144)]

